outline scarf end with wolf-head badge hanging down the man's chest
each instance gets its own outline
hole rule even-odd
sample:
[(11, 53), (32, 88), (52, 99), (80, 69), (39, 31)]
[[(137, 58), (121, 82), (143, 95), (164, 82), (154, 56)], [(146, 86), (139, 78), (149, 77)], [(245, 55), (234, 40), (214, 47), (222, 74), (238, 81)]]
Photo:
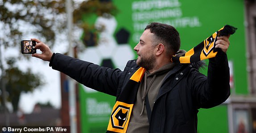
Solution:
[(140, 67), (129, 79), (113, 107), (107, 126), (107, 133), (126, 133), (137, 90), (144, 76), (145, 68)]

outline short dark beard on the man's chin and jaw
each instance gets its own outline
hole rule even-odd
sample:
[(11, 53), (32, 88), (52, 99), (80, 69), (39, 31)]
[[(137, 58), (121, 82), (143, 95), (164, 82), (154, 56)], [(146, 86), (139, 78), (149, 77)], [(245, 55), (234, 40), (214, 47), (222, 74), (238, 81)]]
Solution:
[(145, 68), (146, 70), (152, 70), (155, 67), (156, 58), (153, 54), (150, 54), (148, 58), (142, 58), (140, 56), (140, 60), (137, 59), (137, 65)]

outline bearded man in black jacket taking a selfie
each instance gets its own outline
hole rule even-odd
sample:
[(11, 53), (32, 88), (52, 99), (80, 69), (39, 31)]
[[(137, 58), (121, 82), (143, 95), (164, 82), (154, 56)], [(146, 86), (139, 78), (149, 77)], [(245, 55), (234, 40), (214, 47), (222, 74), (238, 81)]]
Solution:
[[(215, 42), (216, 57), (209, 59), (208, 77), (198, 63), (172, 63), (178, 51), (178, 31), (167, 24), (150, 23), (134, 47), (138, 58), (128, 61), (124, 71), (53, 53), (38, 39), (32, 56), (50, 61), (83, 85), (116, 96), (108, 133), (196, 133), (199, 108), (211, 108), (230, 95), (226, 51), (229, 36)], [(200, 64), (200, 63), (199, 63)], [(200, 65), (199, 65), (200, 66)]]

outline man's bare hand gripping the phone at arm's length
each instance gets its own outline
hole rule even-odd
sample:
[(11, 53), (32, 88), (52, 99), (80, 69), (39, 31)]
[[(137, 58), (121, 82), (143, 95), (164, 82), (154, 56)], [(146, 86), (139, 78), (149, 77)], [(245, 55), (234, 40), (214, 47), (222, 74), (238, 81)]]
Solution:
[(45, 43), (41, 42), (38, 39), (33, 38), (31, 40), (37, 42), (34, 49), (39, 49), (42, 52), (41, 54), (37, 54), (37, 53), (32, 54), (32, 56), (42, 59), (44, 61), (50, 61), (53, 55), (53, 52), (50, 50), (50, 48)]

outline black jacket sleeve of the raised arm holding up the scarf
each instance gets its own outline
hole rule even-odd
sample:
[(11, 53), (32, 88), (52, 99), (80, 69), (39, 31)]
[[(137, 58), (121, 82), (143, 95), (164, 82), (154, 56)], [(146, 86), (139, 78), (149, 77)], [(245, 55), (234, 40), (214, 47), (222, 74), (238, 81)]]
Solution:
[(227, 100), (230, 74), (226, 53), (218, 51), (215, 58), (209, 59), (207, 77), (198, 71), (192, 73), (192, 94), (198, 108), (211, 108)]

